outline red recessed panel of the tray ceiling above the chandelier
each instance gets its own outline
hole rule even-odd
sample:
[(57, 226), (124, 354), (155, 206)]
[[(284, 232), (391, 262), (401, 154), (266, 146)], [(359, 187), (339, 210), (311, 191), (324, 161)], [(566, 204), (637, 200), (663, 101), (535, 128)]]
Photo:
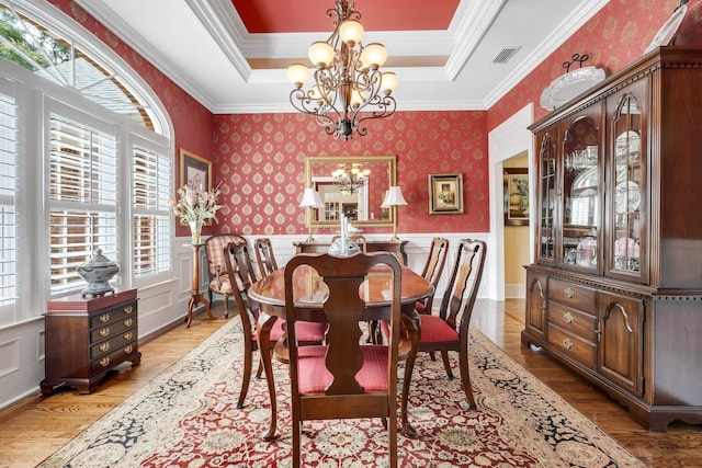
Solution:
[[(355, 0), (366, 31), (446, 30), (460, 0)], [(231, 0), (249, 33), (331, 30), (333, 0)]]

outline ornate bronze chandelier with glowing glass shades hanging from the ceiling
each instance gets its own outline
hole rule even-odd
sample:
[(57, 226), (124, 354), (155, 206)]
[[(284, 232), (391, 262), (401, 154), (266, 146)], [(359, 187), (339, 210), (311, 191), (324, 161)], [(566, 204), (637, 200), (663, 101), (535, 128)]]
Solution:
[(353, 10), (353, 2), (336, 0), (327, 16), (333, 19), (331, 36), (313, 43), (307, 53), (317, 67), (312, 87), (303, 89), (309, 79), (305, 65), (287, 68), (287, 79), (295, 85), (290, 102), (295, 110), (317, 117), (327, 135), (349, 140), (353, 132), (367, 134), (364, 121), (393, 115), (396, 104), (390, 93), (397, 85), (397, 76), (381, 72), (387, 59), (383, 44), (361, 43), (361, 13)]

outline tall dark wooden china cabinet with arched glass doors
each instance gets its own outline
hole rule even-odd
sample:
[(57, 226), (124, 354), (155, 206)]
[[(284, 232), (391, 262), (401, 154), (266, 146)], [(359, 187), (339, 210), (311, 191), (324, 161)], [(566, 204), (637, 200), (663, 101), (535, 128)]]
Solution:
[(702, 49), (660, 47), (535, 123), (522, 342), (645, 427), (702, 422)]

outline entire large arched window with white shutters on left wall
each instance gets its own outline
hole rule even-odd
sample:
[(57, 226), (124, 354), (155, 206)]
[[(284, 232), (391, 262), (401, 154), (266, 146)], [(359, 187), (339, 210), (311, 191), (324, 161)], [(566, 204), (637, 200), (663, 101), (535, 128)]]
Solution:
[(120, 285), (168, 278), (171, 133), (156, 94), (82, 26), (46, 1), (0, 0), (0, 327), (80, 292), (76, 267), (97, 249)]

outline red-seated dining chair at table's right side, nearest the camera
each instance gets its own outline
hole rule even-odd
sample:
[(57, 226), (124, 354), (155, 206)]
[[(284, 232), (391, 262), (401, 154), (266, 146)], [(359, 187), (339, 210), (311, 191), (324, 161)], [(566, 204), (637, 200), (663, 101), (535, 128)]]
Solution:
[[(476, 409), (468, 369), (468, 326), (485, 266), (486, 244), (482, 240), (462, 239), (456, 251), (451, 278), (438, 313), (420, 313), (418, 352), (439, 352), (449, 379), (453, 372), (449, 351), (458, 353), (458, 372), (463, 391), (472, 410)], [(389, 335), (386, 321), (381, 321), (384, 336)]]

